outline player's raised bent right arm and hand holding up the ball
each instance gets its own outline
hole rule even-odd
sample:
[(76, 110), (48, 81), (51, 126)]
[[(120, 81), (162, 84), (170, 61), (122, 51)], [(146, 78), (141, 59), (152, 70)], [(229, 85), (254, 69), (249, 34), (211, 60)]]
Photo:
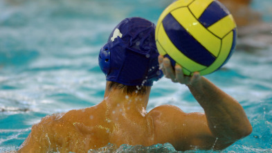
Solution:
[[(199, 105), (203, 107), (208, 128), (217, 141), (212, 145), (213, 149), (224, 149), (240, 138), (251, 134), (251, 124), (237, 100), (228, 96), (197, 72), (192, 77), (185, 76), (182, 73), (181, 66), (176, 65), (175, 70), (172, 69), (169, 59), (159, 56), (158, 61), (160, 64), (163, 63), (165, 77), (170, 78), (173, 82), (186, 84)], [(202, 120), (199, 119), (199, 122), (202, 122)], [(206, 127), (201, 126), (199, 128)], [(202, 141), (206, 141), (205, 138)]]

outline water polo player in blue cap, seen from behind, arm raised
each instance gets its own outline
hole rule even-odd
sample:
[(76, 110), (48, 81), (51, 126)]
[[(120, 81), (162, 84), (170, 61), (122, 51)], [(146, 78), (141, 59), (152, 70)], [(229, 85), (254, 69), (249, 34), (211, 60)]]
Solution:
[[(244, 109), (215, 84), (195, 72), (184, 76), (158, 56), (155, 26), (146, 19), (124, 19), (102, 47), (99, 64), (107, 78), (98, 105), (46, 116), (19, 152), (88, 152), (108, 143), (120, 146), (171, 143), (176, 150), (222, 150), (251, 133)], [(163, 76), (187, 84), (205, 114), (161, 105), (147, 112), (152, 83)]]

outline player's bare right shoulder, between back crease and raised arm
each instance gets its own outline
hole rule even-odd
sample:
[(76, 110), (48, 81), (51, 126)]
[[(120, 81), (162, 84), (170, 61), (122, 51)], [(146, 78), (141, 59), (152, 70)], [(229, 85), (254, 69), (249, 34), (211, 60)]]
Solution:
[(191, 146), (202, 147), (199, 136), (209, 141), (212, 138), (203, 113), (185, 113), (179, 107), (162, 105), (152, 109), (148, 116), (153, 120), (156, 142), (171, 143), (176, 150), (191, 150)]

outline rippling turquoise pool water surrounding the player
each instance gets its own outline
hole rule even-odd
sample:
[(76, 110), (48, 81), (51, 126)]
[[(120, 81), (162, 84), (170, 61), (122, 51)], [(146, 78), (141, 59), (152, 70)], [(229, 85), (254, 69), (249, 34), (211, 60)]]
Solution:
[[(46, 115), (98, 104), (105, 89), (98, 51), (112, 28), (125, 17), (156, 23), (171, 2), (1, 0), (0, 152), (16, 150)], [(253, 1), (264, 21), (272, 19), (271, 6), (270, 0)], [(207, 78), (241, 103), (253, 125), (250, 136), (222, 152), (272, 152), (272, 46), (250, 53), (237, 49), (223, 69)], [(185, 86), (165, 78), (154, 84), (149, 99), (148, 110), (172, 104), (203, 112)], [(170, 144), (119, 150), (137, 148), (175, 152)]]

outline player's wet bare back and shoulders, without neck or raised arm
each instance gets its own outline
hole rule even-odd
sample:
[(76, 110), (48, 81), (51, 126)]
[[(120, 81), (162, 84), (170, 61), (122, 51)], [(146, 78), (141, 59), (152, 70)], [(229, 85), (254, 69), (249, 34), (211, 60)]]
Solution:
[[(33, 126), (28, 141), (25, 141), (31, 147), (24, 149), (29, 152), (30, 148), (36, 148), (33, 152), (46, 152), (49, 146), (58, 148), (50, 150), (54, 152), (87, 152), (108, 143), (118, 146), (171, 143), (176, 150), (188, 150), (194, 147), (190, 144), (201, 146), (205, 142), (203, 146), (206, 146), (209, 141), (214, 142), (203, 114), (185, 114), (172, 105), (156, 107), (145, 115), (123, 114), (119, 110), (109, 109), (101, 103), (87, 109), (46, 116)], [(203, 138), (206, 141), (202, 141)]]

